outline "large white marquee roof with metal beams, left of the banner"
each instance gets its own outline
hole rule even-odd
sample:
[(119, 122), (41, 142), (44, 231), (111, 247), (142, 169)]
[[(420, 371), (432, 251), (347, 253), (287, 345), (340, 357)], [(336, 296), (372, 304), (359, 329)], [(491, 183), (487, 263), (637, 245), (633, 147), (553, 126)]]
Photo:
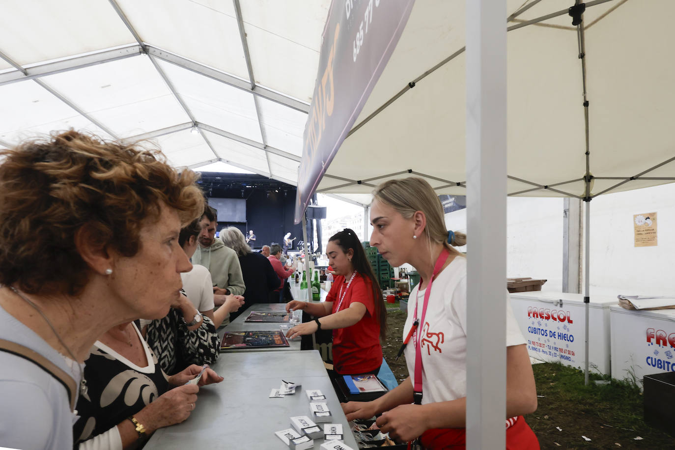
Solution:
[(328, 7), (5, 2), (0, 146), (75, 128), (154, 140), (177, 167), (222, 161), (295, 185)]

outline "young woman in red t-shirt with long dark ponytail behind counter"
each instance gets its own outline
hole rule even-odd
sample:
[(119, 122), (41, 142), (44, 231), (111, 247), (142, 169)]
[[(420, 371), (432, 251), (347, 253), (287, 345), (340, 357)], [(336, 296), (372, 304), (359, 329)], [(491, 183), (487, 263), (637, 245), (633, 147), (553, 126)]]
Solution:
[(326, 301), (293, 300), (286, 311), (304, 310), (315, 316), (288, 331), (288, 337), (333, 330), (333, 368), (340, 375), (377, 374), (382, 365), (386, 310), (382, 291), (363, 247), (351, 229), (333, 235), (326, 247), (335, 281)]

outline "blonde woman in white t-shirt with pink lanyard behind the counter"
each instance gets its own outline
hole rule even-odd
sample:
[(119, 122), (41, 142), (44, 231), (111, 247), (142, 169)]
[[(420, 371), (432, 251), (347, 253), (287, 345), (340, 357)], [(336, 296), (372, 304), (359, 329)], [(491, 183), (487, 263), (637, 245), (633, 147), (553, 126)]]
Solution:
[[(400, 441), (419, 437), (428, 449), (464, 448), (466, 258), (453, 246), (465, 245), (466, 235), (445, 229), (441, 202), (421, 178), (389, 180), (373, 196), (371, 246), (392, 266), (408, 262), (421, 275), (421, 283), (410, 293), (403, 333), (404, 341), (409, 336), (405, 355), (410, 376), (383, 397), (350, 401), (343, 410), (348, 420), (381, 414), (377, 425)], [(506, 289), (504, 301), (506, 448), (539, 449), (522, 418), (537, 409), (535, 379)]]

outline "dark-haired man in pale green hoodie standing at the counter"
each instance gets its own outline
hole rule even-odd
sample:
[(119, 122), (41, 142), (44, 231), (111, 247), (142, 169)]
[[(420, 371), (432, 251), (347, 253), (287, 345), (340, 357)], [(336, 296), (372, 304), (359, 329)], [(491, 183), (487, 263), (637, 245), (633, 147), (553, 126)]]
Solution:
[[(206, 206), (200, 225), (199, 245), (192, 255), (192, 264), (205, 266), (211, 273), (213, 292), (225, 296), (232, 293), (241, 296), (246, 289), (242, 267), (234, 250), (226, 247), (219, 239), (215, 238), (217, 224), (217, 212), (211, 206)], [(227, 325), (227, 320), (223, 321)]]

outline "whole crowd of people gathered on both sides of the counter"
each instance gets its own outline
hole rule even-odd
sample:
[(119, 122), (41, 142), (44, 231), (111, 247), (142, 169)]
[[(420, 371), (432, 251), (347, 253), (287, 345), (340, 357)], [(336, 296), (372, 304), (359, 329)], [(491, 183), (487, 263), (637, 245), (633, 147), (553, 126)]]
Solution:
[[(223, 380), (209, 367), (217, 329), (252, 304), (288, 300), (294, 269), (281, 246), (254, 252), (254, 233), (236, 227), (215, 237), (217, 212), (198, 175), (173, 169), (158, 150), (69, 131), (0, 158), (0, 445), (138, 448), (186, 420), (200, 388)], [(422, 179), (390, 180), (373, 195), (371, 245), (421, 274), (402, 333), (412, 337), (410, 376), (344, 412), (377, 416), (400, 441), (461, 447), (466, 259), (454, 247), (466, 236), (445, 229)], [(331, 376), (377, 374), (387, 333), (379, 280), (354, 231), (333, 235), (326, 250), (327, 298), (290, 300), (287, 311), (313, 320), (288, 337), (331, 330)], [(522, 418), (537, 407), (533, 372), (507, 311), (507, 448), (537, 449)], [(430, 336), (439, 337), (433, 346)]]

